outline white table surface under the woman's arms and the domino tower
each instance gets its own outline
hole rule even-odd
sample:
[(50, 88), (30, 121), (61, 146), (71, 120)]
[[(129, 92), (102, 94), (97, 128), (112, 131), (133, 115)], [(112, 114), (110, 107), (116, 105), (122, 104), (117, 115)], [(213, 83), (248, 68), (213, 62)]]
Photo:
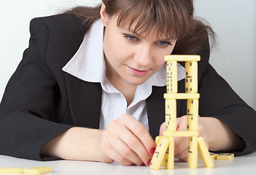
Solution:
[[(122, 166), (118, 163), (96, 163), (86, 161), (55, 160), (55, 161), (35, 161), (20, 158), (12, 158), (0, 155), (0, 167), (21, 167), (31, 168), (34, 166), (51, 166), (53, 175), (80, 175), (80, 174), (104, 174), (104, 175), (248, 175), (256, 174), (256, 152), (250, 155), (243, 155), (233, 160), (214, 160), (214, 168), (205, 168), (202, 161), (198, 161), (198, 168), (187, 168), (187, 163), (174, 163), (173, 170), (160, 169), (152, 170), (147, 166)], [(50, 175), (46, 174), (46, 175)]]

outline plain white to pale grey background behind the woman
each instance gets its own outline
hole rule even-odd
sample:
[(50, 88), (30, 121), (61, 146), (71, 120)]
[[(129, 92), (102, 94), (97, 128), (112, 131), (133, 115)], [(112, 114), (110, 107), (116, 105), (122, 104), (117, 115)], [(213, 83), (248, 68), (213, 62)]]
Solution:
[[(0, 0), (0, 99), (28, 47), (29, 21), (101, 0)], [(244, 101), (256, 109), (256, 1), (195, 0), (195, 15), (218, 34), (211, 63)]]

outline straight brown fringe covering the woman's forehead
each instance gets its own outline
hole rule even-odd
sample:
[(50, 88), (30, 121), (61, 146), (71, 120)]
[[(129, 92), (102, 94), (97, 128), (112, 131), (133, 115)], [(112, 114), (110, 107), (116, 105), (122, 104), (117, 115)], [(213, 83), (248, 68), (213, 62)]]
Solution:
[(106, 13), (110, 16), (117, 15), (117, 26), (126, 23), (130, 30), (137, 33), (147, 35), (155, 31), (159, 37), (168, 36), (171, 39), (183, 39), (191, 32), (192, 0), (117, 0), (115, 2), (106, 4)]

